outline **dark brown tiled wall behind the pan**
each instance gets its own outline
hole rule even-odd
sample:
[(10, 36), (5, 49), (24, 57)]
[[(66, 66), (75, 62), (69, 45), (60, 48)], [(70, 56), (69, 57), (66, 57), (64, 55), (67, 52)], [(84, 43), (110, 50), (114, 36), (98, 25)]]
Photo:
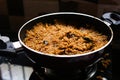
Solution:
[(59, 11), (100, 17), (104, 12), (120, 12), (120, 0), (0, 0), (0, 32), (17, 32), (27, 20)]

